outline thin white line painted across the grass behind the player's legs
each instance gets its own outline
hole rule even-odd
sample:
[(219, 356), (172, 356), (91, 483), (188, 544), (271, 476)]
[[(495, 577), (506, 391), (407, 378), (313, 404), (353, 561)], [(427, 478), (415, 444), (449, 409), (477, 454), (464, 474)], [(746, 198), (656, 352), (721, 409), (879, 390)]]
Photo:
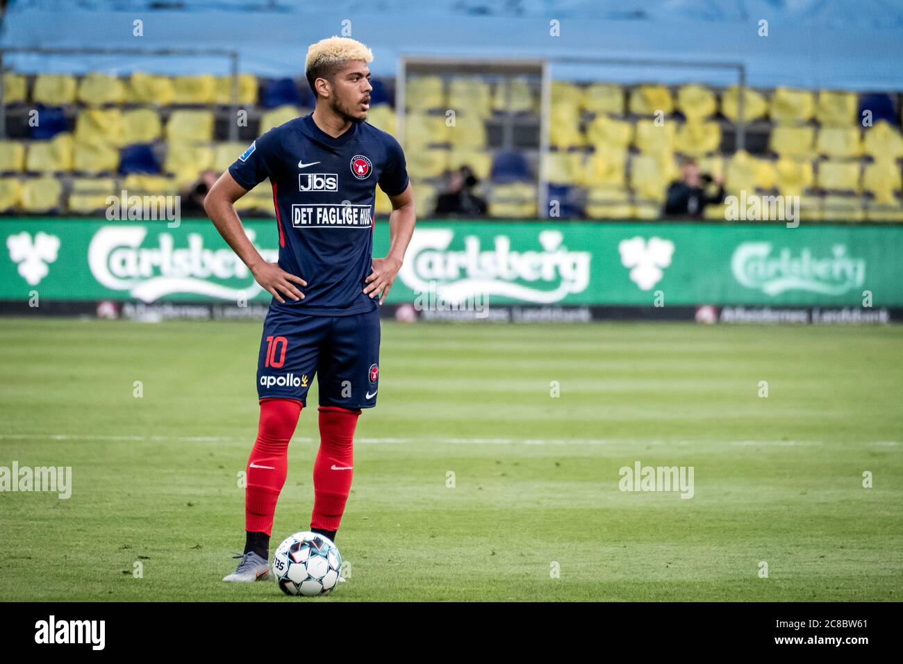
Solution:
[[(0, 434), (0, 440), (53, 440), (53, 441), (126, 441), (134, 443), (163, 443), (163, 442), (179, 442), (179, 443), (232, 443), (236, 441), (247, 441), (249, 444), (253, 442), (253, 438), (248, 436), (216, 436), (216, 435), (87, 435), (87, 434)], [(293, 436), (293, 441), (298, 443), (314, 443), (319, 438), (310, 436)], [(460, 438), (460, 437), (433, 437), (433, 438), (399, 438), (399, 437), (361, 437), (356, 438), (355, 443), (360, 444), (417, 444), (417, 443), (433, 443), (433, 444), (525, 444), (525, 445), (758, 445), (771, 447), (795, 447), (795, 446), (811, 446), (822, 445), (821, 441), (795, 441), (795, 440), (740, 440), (740, 441), (698, 441), (698, 440), (645, 440), (645, 439), (604, 439), (604, 438)], [(842, 443), (838, 443), (842, 444)], [(870, 446), (894, 447), (900, 443), (897, 441), (876, 441), (865, 443)]]

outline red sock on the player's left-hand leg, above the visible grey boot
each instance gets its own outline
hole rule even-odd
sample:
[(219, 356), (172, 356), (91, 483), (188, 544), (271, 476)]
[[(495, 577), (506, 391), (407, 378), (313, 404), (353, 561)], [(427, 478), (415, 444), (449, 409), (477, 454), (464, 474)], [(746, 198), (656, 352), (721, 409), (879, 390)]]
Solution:
[(264, 399), (260, 402), (257, 439), (247, 460), (245, 529), (273, 531), (273, 514), (279, 491), (288, 470), (288, 442), (301, 415), (301, 403), (291, 399)]

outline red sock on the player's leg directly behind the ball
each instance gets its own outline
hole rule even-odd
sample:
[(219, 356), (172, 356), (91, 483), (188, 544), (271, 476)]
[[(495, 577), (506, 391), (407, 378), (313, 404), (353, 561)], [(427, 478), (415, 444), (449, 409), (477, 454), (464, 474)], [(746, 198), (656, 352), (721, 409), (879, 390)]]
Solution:
[(320, 450), (313, 463), (311, 528), (338, 530), (351, 491), (352, 446), (359, 410), (321, 406)]

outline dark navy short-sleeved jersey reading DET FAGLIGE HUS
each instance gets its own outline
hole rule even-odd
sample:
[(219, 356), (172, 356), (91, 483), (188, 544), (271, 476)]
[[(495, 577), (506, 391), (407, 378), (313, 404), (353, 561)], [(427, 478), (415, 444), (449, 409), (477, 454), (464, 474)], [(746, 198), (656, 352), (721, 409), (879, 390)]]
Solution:
[(333, 138), (297, 117), (270, 129), (228, 168), (247, 190), (270, 179), (279, 226), (279, 267), (307, 282), (302, 300), (271, 306), (334, 316), (373, 311), (364, 295), (372, 271), (376, 185), (407, 188), (405, 154), (386, 132), (354, 122)]

